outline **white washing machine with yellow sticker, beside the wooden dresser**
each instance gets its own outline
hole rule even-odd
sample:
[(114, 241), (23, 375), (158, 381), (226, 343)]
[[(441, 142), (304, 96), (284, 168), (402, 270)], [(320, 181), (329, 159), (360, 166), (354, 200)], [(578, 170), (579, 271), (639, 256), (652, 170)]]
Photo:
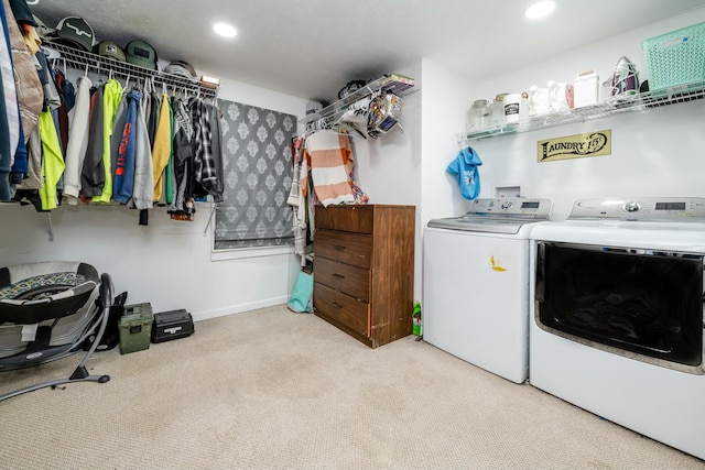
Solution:
[(522, 383), (529, 369), (529, 229), (551, 200), (476, 199), (424, 229), (423, 339)]

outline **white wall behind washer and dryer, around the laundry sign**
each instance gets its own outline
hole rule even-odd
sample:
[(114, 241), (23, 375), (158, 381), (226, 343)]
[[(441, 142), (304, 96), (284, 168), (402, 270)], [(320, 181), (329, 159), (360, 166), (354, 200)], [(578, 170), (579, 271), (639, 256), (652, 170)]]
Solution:
[[(646, 79), (641, 42), (701, 21), (705, 21), (705, 9), (626, 32), (570, 54), (475, 84), (471, 92), (460, 101), (467, 105), (474, 99), (494, 97), (499, 92), (523, 91), (531, 85), (545, 86), (549, 80), (572, 81), (578, 72), (589, 68), (595, 68), (600, 80), (605, 80), (622, 55), (636, 63), (640, 78)], [(424, 75), (424, 78), (425, 91), (429, 91), (427, 76)], [(553, 199), (553, 218), (558, 220), (567, 217), (575, 199), (583, 197), (703, 196), (703, 105), (698, 100), (585, 123), (471, 141), (469, 145), (484, 162), (480, 167), (480, 197), (494, 197), (497, 186), (521, 186), (523, 196)], [(456, 111), (455, 119), (448, 120), (448, 128), (444, 132), (445, 139), (451, 142), (452, 135), (464, 130), (467, 106), (458, 109), (456, 99), (451, 98), (445, 100), (445, 106)], [(426, 116), (424, 112), (424, 119)], [(611, 155), (538, 163), (538, 141), (603, 129), (611, 129)], [(427, 171), (440, 172), (440, 168), (425, 166), (427, 159), (438, 157), (425, 151), (425, 146), (423, 157), (424, 178)], [(457, 183), (444, 182), (440, 175), (435, 178), (440, 187), (434, 186), (435, 197), (427, 199), (429, 206), (424, 205), (424, 212), (435, 215), (445, 211), (449, 216), (448, 208), (452, 207), (452, 215), (463, 214), (467, 204), (456, 190)], [(424, 185), (424, 189), (430, 189), (429, 185)], [(448, 196), (449, 192), (452, 196)]]

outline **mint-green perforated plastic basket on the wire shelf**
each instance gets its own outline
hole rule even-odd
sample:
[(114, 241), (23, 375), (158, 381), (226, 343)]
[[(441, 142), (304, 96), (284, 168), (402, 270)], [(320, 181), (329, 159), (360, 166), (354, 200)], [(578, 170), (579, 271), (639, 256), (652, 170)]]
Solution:
[(705, 22), (661, 34), (641, 43), (650, 91), (703, 88)]

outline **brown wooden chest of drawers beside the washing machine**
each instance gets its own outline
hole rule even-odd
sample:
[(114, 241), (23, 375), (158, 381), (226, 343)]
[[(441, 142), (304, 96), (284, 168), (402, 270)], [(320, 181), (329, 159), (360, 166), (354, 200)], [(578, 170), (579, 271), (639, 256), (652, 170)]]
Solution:
[(316, 206), (313, 305), (371, 348), (411, 334), (414, 206)]

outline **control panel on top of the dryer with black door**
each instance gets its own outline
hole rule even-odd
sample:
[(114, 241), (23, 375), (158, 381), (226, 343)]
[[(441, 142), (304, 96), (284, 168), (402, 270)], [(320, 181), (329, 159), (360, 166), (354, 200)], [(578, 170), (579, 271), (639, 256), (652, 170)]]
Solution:
[(705, 221), (705, 198), (642, 197), (578, 199), (568, 219)]

